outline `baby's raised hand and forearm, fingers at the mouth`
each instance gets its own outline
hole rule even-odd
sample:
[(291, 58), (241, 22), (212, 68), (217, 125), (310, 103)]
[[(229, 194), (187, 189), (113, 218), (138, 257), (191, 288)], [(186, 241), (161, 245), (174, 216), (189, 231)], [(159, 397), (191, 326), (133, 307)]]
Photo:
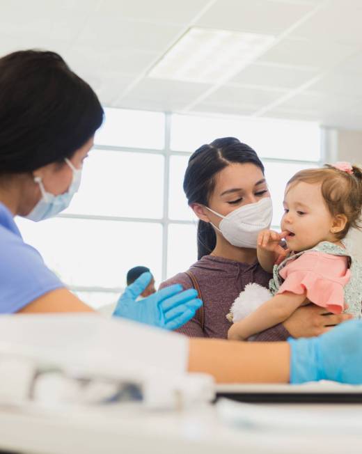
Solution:
[(258, 262), (269, 273), (273, 271), (276, 259), (281, 255), (286, 256), (288, 253), (280, 244), (285, 235), (286, 232), (278, 233), (274, 230), (262, 230), (258, 235), (256, 248)]

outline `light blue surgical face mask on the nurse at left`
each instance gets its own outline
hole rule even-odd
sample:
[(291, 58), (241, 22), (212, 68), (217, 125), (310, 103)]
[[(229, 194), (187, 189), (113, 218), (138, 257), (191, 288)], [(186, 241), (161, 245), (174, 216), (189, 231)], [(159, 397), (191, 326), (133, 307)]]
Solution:
[(70, 201), (74, 194), (78, 191), (79, 185), (81, 184), (81, 169), (76, 169), (69, 159), (65, 158), (65, 162), (72, 169), (72, 182), (68, 191), (64, 194), (59, 194), (54, 196), (50, 192), (45, 191), (45, 187), (42, 184), (41, 177), (34, 177), (34, 182), (38, 183), (40, 187), (40, 192), (42, 193), (42, 198), (36, 204), (36, 206), (27, 214), (26, 219), (31, 219), (31, 221), (42, 221), (43, 219), (48, 219), (49, 217), (54, 217), (56, 214), (68, 208)]

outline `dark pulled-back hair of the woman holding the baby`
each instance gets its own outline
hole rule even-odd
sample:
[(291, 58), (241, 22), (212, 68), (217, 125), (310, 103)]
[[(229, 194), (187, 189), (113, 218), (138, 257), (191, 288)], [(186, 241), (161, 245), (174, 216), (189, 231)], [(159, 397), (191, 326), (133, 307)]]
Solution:
[[(217, 174), (230, 164), (255, 164), (264, 174), (264, 166), (253, 148), (235, 137), (223, 137), (198, 148), (190, 157), (184, 174), (184, 194), (189, 205), (208, 206)], [(210, 222), (198, 221), (198, 260), (210, 254), (217, 238)]]

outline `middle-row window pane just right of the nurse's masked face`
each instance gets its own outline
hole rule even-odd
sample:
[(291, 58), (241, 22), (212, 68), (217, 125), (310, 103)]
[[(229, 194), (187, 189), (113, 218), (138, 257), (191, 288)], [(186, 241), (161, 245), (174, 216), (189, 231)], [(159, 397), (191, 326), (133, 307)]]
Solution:
[(164, 157), (93, 150), (65, 213), (162, 218)]

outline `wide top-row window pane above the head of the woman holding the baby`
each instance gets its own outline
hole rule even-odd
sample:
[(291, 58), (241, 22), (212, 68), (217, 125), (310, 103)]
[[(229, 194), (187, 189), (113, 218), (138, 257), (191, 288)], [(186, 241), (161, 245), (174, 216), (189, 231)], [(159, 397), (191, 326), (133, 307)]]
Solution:
[(317, 123), (233, 116), (172, 116), (172, 150), (193, 152), (204, 143), (228, 136), (247, 143), (260, 157), (320, 160)]

